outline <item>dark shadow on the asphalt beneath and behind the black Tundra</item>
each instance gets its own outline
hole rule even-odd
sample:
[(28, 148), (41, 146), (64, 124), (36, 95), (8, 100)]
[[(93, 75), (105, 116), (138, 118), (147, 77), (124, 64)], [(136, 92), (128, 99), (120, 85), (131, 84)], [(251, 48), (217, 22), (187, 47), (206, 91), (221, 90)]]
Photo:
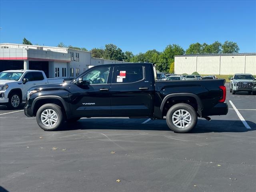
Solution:
[[(170, 131), (165, 120), (151, 120), (142, 124), (142, 119), (122, 119), (122, 118), (95, 118), (81, 119), (75, 123), (66, 123), (59, 131), (66, 130), (159, 130)], [(251, 129), (247, 129), (240, 120), (198, 120), (194, 129), (188, 133), (207, 132), (248, 132), (256, 130), (254, 122), (247, 121)]]

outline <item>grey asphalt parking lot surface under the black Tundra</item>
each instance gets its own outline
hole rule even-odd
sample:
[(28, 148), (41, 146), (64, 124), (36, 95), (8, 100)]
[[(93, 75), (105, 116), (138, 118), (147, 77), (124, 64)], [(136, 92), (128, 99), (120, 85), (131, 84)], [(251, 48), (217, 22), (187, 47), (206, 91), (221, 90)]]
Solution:
[(46, 132), (22, 108), (0, 106), (1, 192), (254, 192), (256, 96), (227, 86), (226, 102), (226, 116), (199, 119), (186, 134), (129, 118)]

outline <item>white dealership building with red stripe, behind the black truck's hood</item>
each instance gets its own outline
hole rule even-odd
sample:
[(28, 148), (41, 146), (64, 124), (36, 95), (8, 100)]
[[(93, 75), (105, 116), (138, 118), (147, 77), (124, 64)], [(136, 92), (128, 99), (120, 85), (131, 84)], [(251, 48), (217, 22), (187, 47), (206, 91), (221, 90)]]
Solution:
[(0, 44), (0, 72), (14, 69), (43, 70), (48, 78), (74, 78), (91, 66), (123, 61), (92, 58), (92, 53), (70, 48)]

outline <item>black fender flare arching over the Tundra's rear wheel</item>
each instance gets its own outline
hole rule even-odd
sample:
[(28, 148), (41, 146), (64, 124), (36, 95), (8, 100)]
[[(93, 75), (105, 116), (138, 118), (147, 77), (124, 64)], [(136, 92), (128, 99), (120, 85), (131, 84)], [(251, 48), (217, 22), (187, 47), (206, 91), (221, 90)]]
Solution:
[(196, 103), (197, 103), (197, 113), (200, 115), (200, 117), (202, 117), (202, 110), (203, 110), (203, 104), (201, 99), (193, 93), (172, 93), (172, 94), (168, 94), (164, 97), (164, 99), (162, 100), (161, 106), (160, 106), (160, 111), (163, 112), (164, 110), (164, 104), (166, 103), (166, 101), (168, 100), (168, 98), (171, 97), (180, 97), (180, 96), (189, 96), (189, 97), (193, 97), (196, 99)]

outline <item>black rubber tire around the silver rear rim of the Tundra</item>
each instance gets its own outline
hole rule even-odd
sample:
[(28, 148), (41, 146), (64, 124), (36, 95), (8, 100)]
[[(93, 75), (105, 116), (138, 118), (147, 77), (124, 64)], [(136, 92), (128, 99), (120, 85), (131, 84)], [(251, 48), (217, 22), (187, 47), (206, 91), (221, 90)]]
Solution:
[[(178, 110), (186, 110), (187, 112), (189, 112), (190, 116), (191, 116), (191, 122), (188, 126), (186, 126), (185, 128), (179, 128), (178, 126), (174, 125), (174, 122), (172, 121), (172, 117), (173, 114), (178, 111)], [(176, 117), (174, 117), (176, 118)], [(196, 111), (194, 110), (194, 108), (188, 104), (185, 103), (178, 103), (175, 104), (174, 106), (172, 106), (167, 114), (166, 114), (166, 122), (168, 127), (173, 130), (174, 132), (177, 133), (185, 133), (190, 131), (192, 128), (194, 128), (194, 126), (196, 126), (197, 123), (197, 114)], [(181, 125), (181, 124), (180, 124)]]

